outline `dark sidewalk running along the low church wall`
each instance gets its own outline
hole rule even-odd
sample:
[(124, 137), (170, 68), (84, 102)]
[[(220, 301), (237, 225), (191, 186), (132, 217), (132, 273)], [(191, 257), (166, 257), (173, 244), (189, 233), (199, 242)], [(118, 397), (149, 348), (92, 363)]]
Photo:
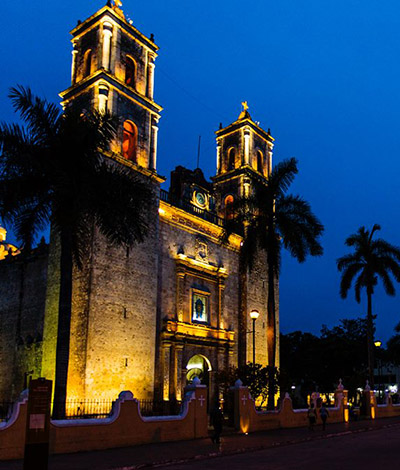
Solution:
[[(326, 431), (322, 431), (321, 425), (318, 425), (315, 431), (309, 431), (307, 428), (295, 428), (258, 432), (247, 436), (228, 434), (222, 437), (220, 446), (212, 444), (210, 439), (198, 439), (146, 444), (96, 452), (54, 455), (50, 456), (49, 470), (131, 470), (215, 458), (219, 455), (251, 452), (309, 440), (334, 438), (343, 434), (365, 432), (391, 426), (400, 426), (400, 417), (375, 421), (355, 421), (349, 424), (327, 424)], [(22, 461), (0, 462), (0, 469), (20, 470), (22, 469)]]

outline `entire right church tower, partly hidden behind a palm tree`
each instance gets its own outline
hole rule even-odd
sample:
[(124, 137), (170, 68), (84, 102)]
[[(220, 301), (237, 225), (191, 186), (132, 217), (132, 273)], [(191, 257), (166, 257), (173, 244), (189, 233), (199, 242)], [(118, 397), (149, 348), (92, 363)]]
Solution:
[[(218, 215), (233, 217), (234, 202), (252, 194), (259, 184), (265, 184), (272, 170), (272, 150), (274, 139), (270, 131), (264, 131), (258, 122), (253, 121), (247, 102), (238, 119), (216, 132), (217, 136), (217, 175), (213, 178), (214, 194)], [(255, 327), (257, 338), (257, 362), (268, 364), (268, 268), (267, 253), (256, 247), (257, 254), (253, 269), (241, 259), (239, 267), (239, 334), (238, 361), (244, 365), (252, 361), (252, 344), (248, 331)], [(278, 298), (278, 290), (276, 293)], [(250, 311), (257, 310), (259, 318), (251, 326)], [(279, 318), (279, 315), (277, 315)], [(278, 323), (276, 331), (279, 331)]]

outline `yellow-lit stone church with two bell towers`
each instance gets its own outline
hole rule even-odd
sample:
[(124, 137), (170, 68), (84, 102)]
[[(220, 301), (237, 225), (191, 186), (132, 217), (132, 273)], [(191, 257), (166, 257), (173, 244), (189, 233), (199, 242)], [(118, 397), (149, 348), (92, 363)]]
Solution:
[[(271, 172), (274, 139), (243, 103), (237, 119), (216, 131), (211, 181), (199, 168), (178, 166), (169, 190), (161, 188), (158, 47), (121, 6), (109, 1), (71, 31), (71, 86), (61, 93), (62, 105), (117, 115), (119, 133), (106, 158), (148, 181), (158, 197), (143, 243), (116, 248), (94, 229), (84, 267), (74, 271), (67, 398), (115, 399), (131, 390), (142, 399), (181, 401), (196, 376), (215, 395), (216, 373), (252, 361), (253, 346), (256, 362), (268, 364), (266, 255), (243, 272), (242, 236), (224, 244), (221, 236), (234, 201)], [(0, 284), (0, 398), (8, 399), (28, 376), (54, 380), (57, 241), (50, 237), (29, 254), (10, 248), (0, 276), (7, 279)], [(275, 289), (278, 300), (278, 283)], [(278, 341), (276, 348), (279, 358)]]

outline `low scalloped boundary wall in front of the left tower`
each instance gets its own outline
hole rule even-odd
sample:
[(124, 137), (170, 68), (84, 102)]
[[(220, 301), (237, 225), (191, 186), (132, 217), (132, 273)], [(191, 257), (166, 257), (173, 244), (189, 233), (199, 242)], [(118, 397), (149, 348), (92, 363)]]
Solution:
[[(87, 452), (151, 442), (181, 441), (208, 435), (207, 389), (193, 387), (177, 416), (143, 418), (131, 392), (121, 393), (109, 418), (51, 421), (50, 453)], [(26, 432), (26, 399), (8, 423), (0, 423), (0, 460), (21, 459)]]

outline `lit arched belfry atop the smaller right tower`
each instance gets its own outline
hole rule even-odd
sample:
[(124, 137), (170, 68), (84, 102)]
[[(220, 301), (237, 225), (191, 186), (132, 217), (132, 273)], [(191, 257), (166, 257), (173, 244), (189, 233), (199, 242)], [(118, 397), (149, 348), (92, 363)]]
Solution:
[(216, 132), (217, 175), (213, 178), (219, 215), (227, 215), (229, 204), (250, 194), (252, 186), (266, 181), (272, 168), (274, 139), (253, 121), (247, 102), (239, 118)]

